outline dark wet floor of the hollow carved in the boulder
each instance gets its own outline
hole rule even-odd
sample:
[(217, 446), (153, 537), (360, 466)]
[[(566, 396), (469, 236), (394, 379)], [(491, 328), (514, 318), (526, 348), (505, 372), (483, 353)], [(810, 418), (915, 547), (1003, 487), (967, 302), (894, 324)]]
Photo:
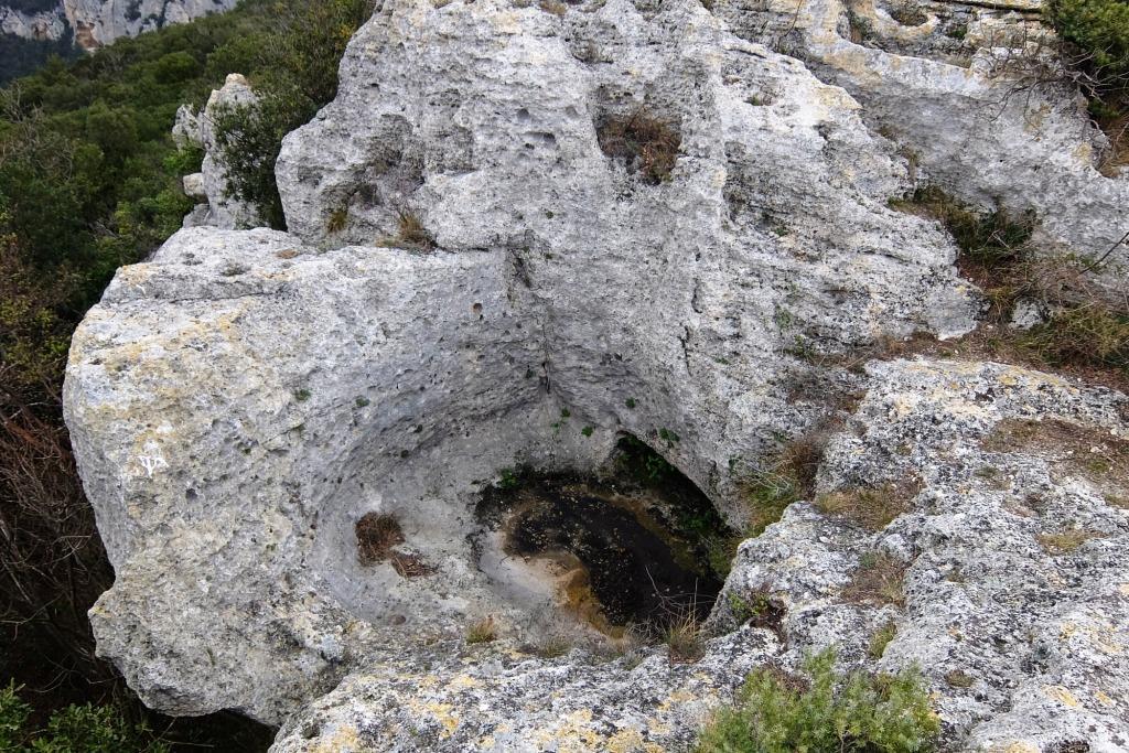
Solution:
[(507, 474), (478, 515), (506, 554), (553, 581), (567, 612), (614, 638), (704, 621), (721, 587), (710, 552), (733, 535), (706, 494), (630, 436), (606, 475)]

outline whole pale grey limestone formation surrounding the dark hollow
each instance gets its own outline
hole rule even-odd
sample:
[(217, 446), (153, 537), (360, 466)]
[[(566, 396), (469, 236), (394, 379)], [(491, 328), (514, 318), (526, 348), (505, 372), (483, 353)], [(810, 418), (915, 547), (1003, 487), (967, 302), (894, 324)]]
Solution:
[[(924, 30), (899, 53), (842, 38), (822, 0), (712, 6), (388, 0), (283, 143), (287, 233), (233, 229), (254, 220), (217, 210), (215, 161), (190, 181), (211, 227), (119, 272), (64, 396), (116, 572), (99, 653), (147, 703), (286, 723), (287, 752), (677, 750), (751, 667), (829, 642), (874, 665), (893, 621), (876, 666), (921, 662), (951, 747), (1129, 737), (1126, 399), (1001, 365), (843, 368), (982, 308), (951, 238), (892, 198), (979, 200), (1042, 160), (1019, 208), (1085, 249), (1126, 182), (1077, 148), (1096, 137), (1071, 99), (1045, 133), (977, 121), (995, 84), (937, 68)], [(956, 78), (968, 98), (939, 93)], [(215, 159), (208, 122), (177, 131)], [(991, 169), (942, 165), (981, 132)], [(595, 472), (627, 434), (739, 527), (743, 470), (813, 428), (831, 497), (743, 545), (700, 664), (517, 650), (592, 628), (476, 514), (504, 470)], [(887, 484), (902, 505), (874, 531), (828, 502)], [(418, 567), (359, 557), (370, 513)], [(852, 587), (864, 555), (908, 568), (904, 605)], [(777, 631), (736, 629), (729, 595), (762, 592)], [(466, 649), (480, 620), (501, 639)]]

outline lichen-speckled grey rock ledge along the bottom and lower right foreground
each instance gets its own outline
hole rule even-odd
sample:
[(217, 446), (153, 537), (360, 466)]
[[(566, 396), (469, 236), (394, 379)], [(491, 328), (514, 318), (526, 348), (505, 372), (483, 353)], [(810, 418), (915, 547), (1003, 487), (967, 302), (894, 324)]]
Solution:
[[(828, 645), (848, 665), (917, 663), (945, 750), (1124, 750), (1129, 511), (1108, 490), (1124, 490), (1129, 400), (998, 364), (894, 361), (868, 376), (816, 505), (794, 504), (741, 548), (715, 608), (725, 634), (690, 678), (665, 648), (611, 663), (484, 651), (426, 671), (379, 664), (272, 750), (685, 750), (750, 657), (795, 671)], [(877, 531), (821, 511), (829, 496), (887, 484), (898, 509)], [(898, 593), (860, 587), (868, 557), (893, 563), (879, 567)], [(726, 632), (759, 599), (778, 622)]]

